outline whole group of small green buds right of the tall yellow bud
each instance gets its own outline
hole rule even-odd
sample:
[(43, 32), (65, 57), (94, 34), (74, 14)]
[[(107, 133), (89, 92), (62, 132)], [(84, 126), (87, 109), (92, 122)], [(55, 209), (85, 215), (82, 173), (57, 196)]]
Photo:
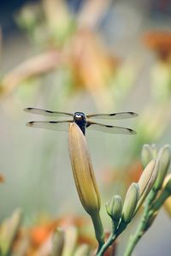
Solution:
[[(162, 188), (170, 164), (170, 147), (168, 145), (163, 146), (157, 152), (156, 145), (144, 145), (141, 158), (144, 171), (139, 178), (139, 182), (133, 182), (128, 188), (123, 205), (119, 195), (115, 195), (106, 204), (106, 211), (112, 219), (114, 224), (113, 230), (115, 230), (116, 234), (121, 234), (144, 202), (144, 205), (147, 206), (146, 209), (148, 209), (145, 213), (146, 216), (148, 215), (147, 212), (150, 212), (149, 216), (146, 217), (146, 227), (144, 230), (150, 227), (150, 224), (156, 217), (156, 211), (171, 194), (171, 177), (164, 188)], [(161, 190), (162, 197), (159, 196), (157, 198), (158, 192)]]

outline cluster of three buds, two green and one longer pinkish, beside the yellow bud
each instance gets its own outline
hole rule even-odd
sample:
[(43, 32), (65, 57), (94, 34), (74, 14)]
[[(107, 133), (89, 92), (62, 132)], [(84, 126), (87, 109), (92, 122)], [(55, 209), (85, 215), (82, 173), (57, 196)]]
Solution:
[(128, 188), (123, 206), (119, 195), (115, 195), (111, 202), (106, 204), (106, 211), (115, 223), (115, 229), (120, 230), (131, 222), (154, 185), (157, 173), (158, 161), (153, 159), (147, 164), (139, 178), (139, 182), (133, 182)]

